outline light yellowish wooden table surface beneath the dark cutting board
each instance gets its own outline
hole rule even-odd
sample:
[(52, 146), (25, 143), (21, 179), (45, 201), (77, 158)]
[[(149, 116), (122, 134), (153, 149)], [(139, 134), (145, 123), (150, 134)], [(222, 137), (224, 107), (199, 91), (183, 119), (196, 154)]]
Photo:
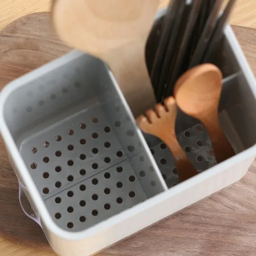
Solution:
[[(24, 15), (33, 12), (49, 11), (50, 2), (50, 0), (0, 0), (0, 30)], [(160, 0), (160, 7), (165, 6), (168, 2), (168, 0)], [(256, 28), (256, 0), (237, 0), (230, 23)], [(42, 252), (29, 247), (12, 244), (0, 237), (0, 255), (53, 256), (55, 253)], [(232, 251), (230, 251), (230, 255), (232, 255)]]

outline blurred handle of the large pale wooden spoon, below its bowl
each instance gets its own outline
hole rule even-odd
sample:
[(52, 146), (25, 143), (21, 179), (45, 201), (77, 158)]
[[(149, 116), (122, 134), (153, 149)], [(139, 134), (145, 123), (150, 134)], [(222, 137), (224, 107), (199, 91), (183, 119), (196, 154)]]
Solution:
[(145, 64), (145, 39), (133, 41), (102, 55), (119, 84), (135, 118), (156, 104)]

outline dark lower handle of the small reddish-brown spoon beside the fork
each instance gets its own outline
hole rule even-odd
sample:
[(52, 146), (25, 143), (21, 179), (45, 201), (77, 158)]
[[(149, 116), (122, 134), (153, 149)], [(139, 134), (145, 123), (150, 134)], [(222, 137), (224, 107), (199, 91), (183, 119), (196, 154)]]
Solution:
[(208, 131), (217, 163), (233, 157), (235, 152), (221, 129), (217, 111), (215, 115), (211, 115), (210, 119), (202, 120), (202, 122)]

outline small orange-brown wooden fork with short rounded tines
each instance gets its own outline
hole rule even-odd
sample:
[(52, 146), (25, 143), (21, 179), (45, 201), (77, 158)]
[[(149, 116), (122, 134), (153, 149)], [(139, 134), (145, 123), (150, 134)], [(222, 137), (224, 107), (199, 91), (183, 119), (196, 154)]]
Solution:
[(197, 174), (195, 167), (184, 153), (175, 135), (175, 120), (177, 116), (177, 105), (171, 96), (164, 100), (164, 106), (158, 103), (155, 111), (149, 109), (146, 116), (139, 116), (137, 123), (145, 133), (153, 134), (163, 140), (170, 149), (180, 181), (186, 180)]

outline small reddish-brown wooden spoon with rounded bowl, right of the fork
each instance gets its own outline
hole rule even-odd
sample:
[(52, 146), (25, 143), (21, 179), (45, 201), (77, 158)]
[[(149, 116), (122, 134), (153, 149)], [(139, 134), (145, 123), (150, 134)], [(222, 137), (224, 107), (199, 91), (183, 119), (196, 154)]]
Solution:
[(180, 76), (174, 89), (179, 108), (205, 125), (218, 163), (235, 154), (218, 119), (221, 88), (221, 70), (213, 64), (201, 64)]

